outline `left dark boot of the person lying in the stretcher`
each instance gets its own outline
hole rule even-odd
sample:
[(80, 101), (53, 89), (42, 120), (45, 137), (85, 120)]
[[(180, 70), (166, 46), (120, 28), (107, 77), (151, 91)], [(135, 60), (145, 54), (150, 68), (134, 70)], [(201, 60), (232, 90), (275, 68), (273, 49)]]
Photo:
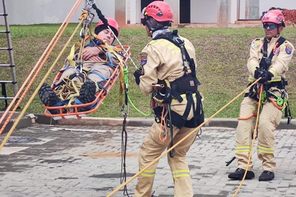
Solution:
[[(38, 96), (41, 99), (41, 102), (48, 107), (52, 107), (58, 102), (62, 101), (47, 83), (42, 84), (41, 88), (38, 91)], [(58, 109), (49, 109), (48, 111), (51, 114), (60, 113)]]

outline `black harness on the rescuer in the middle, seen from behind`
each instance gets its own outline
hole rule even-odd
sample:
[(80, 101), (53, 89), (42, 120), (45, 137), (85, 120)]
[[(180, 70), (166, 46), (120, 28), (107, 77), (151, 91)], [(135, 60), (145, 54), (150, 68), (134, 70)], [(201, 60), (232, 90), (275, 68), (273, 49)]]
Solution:
[[(201, 102), (201, 96), (197, 90), (197, 86), (200, 85), (200, 82), (196, 78), (196, 70), (195, 70), (195, 64), (193, 58), (190, 58), (187, 50), (185, 49), (185, 42), (179, 37), (178, 31), (174, 30), (171, 33), (166, 34), (160, 34), (154, 38), (155, 39), (166, 39), (172, 43), (174, 43), (176, 46), (178, 46), (181, 49), (182, 54), (182, 60), (183, 60), (183, 71), (185, 74), (170, 82), (170, 100), (167, 101), (168, 104), (171, 103), (172, 99), (177, 99), (179, 102), (183, 101), (183, 98), (181, 95), (186, 95), (187, 99), (187, 105), (184, 111), (184, 114), (181, 116), (175, 111), (171, 111), (171, 117), (170, 121), (171, 124), (181, 129), (182, 127), (187, 128), (196, 128), (201, 123), (204, 122), (204, 112)], [(189, 63), (189, 68), (191, 70), (191, 73), (188, 73), (187, 70), (187, 63)], [(163, 82), (164, 80), (159, 80), (158, 84), (165, 84)], [(195, 94), (196, 97), (196, 106), (193, 100), (193, 94)], [(166, 94), (164, 94), (166, 95)], [(190, 120), (187, 120), (187, 117), (190, 113), (190, 109), (193, 109), (193, 118)], [(159, 110), (155, 110), (156, 112), (159, 112)], [(159, 113), (155, 113), (155, 116), (157, 117)], [(157, 122), (157, 119), (155, 119)]]

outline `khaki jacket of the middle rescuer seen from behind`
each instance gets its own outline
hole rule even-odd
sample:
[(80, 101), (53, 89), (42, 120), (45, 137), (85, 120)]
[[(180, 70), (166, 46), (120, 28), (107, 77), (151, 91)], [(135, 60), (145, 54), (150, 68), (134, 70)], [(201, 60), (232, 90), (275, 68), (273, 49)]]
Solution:
[[(189, 57), (193, 58), (196, 68), (195, 49), (192, 43), (184, 37), (180, 36), (180, 38), (184, 40), (185, 48)], [(157, 79), (167, 79), (171, 82), (185, 74), (181, 49), (166, 39), (150, 41), (142, 50), (141, 60), (143, 58), (146, 64), (142, 64), (144, 75), (140, 77), (140, 89), (147, 95), (152, 93), (151, 83), (156, 84)], [(187, 69), (191, 73), (189, 63), (187, 63)]]

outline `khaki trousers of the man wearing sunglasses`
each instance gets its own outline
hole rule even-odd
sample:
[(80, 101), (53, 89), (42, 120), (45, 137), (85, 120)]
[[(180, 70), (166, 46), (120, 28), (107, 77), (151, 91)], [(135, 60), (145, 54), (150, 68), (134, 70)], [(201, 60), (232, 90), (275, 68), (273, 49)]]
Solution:
[[(240, 117), (250, 115), (257, 103), (255, 99), (245, 97), (241, 103)], [(282, 118), (282, 111), (272, 102), (266, 102), (259, 116), (258, 147), (259, 160), (262, 161), (263, 170), (273, 172), (276, 166), (274, 161), (274, 131)], [(252, 145), (252, 133), (255, 129), (256, 117), (240, 120), (236, 129), (235, 157), (238, 158), (238, 167), (246, 169)], [(252, 161), (248, 170), (253, 171)]]

